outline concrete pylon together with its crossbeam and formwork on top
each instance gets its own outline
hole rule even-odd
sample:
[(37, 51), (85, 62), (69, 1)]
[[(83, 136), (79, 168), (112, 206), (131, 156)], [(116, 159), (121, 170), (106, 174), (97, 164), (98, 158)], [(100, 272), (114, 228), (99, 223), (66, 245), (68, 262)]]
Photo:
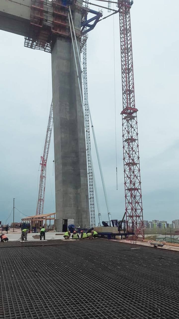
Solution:
[[(82, 0), (72, 1), (70, 6), (80, 48)], [(71, 218), (75, 225), (87, 227), (85, 130), (67, 2), (1, 0), (0, 29), (25, 36), (25, 47), (52, 53), (56, 219)]]

